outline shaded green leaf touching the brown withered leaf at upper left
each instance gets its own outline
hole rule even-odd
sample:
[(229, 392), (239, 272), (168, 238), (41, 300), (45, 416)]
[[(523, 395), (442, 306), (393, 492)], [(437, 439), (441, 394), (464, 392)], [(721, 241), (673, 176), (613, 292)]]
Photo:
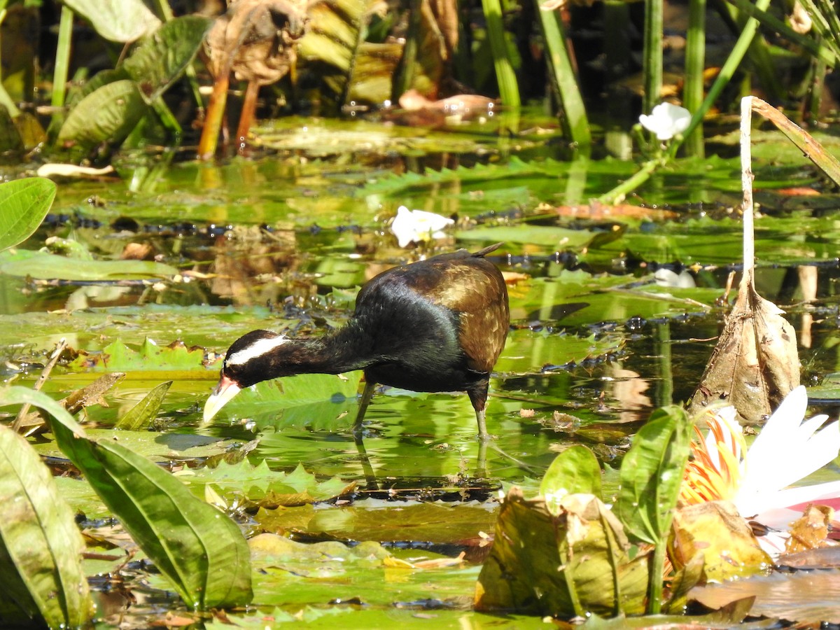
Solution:
[(172, 19), (139, 41), (123, 69), (140, 87), (146, 102), (160, 97), (181, 76), (211, 24), (207, 18), (187, 15)]

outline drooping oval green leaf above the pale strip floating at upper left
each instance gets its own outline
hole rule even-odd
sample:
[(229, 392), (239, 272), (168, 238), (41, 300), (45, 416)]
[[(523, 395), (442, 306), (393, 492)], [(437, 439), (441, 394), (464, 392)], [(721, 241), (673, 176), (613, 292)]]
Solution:
[(147, 105), (134, 81), (113, 81), (72, 109), (58, 134), (59, 144), (77, 144), (90, 149), (102, 142), (119, 144), (131, 133), (147, 111)]

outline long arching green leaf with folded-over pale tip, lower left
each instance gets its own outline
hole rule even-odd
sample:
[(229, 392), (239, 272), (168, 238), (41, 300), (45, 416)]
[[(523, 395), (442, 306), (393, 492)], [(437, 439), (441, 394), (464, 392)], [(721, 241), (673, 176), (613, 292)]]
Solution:
[(112, 440), (84, 438), (70, 414), (45, 394), (12, 387), (4, 400), (50, 412), (60, 448), (188, 606), (250, 601), (248, 543), (236, 523), (150, 460)]

